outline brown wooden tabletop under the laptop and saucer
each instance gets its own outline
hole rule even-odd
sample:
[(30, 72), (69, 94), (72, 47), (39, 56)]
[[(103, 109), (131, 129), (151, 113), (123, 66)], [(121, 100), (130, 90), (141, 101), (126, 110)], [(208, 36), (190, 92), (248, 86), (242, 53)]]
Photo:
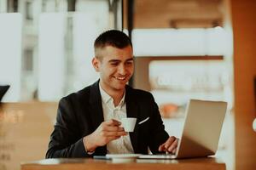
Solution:
[(45, 159), (41, 161), (21, 162), (21, 170), (225, 170), (224, 162), (215, 158), (183, 160), (142, 160), (114, 163), (113, 161), (95, 159)]

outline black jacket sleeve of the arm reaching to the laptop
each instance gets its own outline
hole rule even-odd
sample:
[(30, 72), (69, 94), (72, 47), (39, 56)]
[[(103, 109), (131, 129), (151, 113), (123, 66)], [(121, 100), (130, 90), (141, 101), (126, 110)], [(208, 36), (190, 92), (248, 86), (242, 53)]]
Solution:
[(151, 95), (151, 105), (152, 105), (152, 115), (150, 117), (151, 126), (150, 132), (152, 138), (149, 140), (149, 149), (153, 154), (159, 153), (158, 148), (160, 144), (166, 142), (169, 138), (168, 133), (166, 133), (165, 126), (160, 116), (158, 105), (154, 101), (154, 97)]

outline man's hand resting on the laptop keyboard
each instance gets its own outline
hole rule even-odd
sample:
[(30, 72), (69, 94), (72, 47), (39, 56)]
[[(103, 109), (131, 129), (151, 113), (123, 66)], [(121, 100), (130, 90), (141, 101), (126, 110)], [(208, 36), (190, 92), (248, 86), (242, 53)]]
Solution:
[(166, 151), (174, 154), (177, 150), (177, 142), (178, 139), (174, 136), (169, 137), (164, 144), (160, 144), (158, 150), (159, 151)]

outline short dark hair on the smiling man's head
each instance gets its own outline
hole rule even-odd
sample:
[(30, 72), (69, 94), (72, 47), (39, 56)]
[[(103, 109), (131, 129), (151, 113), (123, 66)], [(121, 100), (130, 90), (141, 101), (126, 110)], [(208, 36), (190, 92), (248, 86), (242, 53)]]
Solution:
[(94, 42), (94, 49), (113, 46), (114, 48), (125, 48), (131, 45), (131, 39), (122, 31), (108, 30), (103, 32)]

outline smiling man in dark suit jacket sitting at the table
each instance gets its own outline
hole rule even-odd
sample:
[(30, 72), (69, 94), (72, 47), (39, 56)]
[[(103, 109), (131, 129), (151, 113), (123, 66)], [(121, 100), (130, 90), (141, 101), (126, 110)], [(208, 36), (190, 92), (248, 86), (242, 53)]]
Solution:
[[(106, 31), (94, 48), (100, 80), (61, 99), (46, 158), (174, 152), (177, 139), (166, 133), (152, 94), (126, 85), (134, 70), (130, 38)], [(123, 117), (137, 117), (134, 132), (120, 127)]]

